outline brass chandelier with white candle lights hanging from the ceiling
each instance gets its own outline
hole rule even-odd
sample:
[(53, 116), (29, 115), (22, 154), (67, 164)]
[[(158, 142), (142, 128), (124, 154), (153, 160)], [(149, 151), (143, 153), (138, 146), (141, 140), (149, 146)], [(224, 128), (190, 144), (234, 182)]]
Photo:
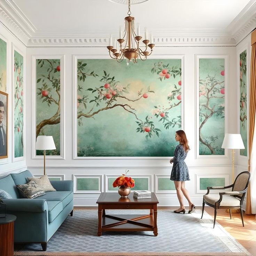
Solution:
[[(109, 50), (109, 55), (112, 59), (116, 59), (118, 62), (122, 62), (124, 58), (126, 58), (127, 65), (129, 62), (138, 62), (138, 58), (142, 61), (147, 59), (147, 56), (151, 55), (153, 51), (153, 35), (151, 34), (151, 40), (147, 39), (147, 29), (145, 27), (145, 39), (142, 41), (145, 45), (145, 49), (142, 50), (139, 47), (139, 41), (142, 37), (139, 35), (139, 25), (137, 26), (137, 35), (135, 34), (134, 28), (134, 17), (130, 16), (130, 0), (128, 0), (128, 16), (125, 17), (125, 30), (122, 31), (122, 26), (119, 27), (119, 39), (117, 39), (118, 47), (120, 50), (116, 49), (116, 41), (114, 40), (114, 46), (112, 46), (112, 35), (109, 38), (109, 46), (107, 49)], [(124, 32), (124, 36), (122, 33)], [(149, 43), (151, 42), (151, 43)], [(151, 51), (149, 52), (149, 50)]]

